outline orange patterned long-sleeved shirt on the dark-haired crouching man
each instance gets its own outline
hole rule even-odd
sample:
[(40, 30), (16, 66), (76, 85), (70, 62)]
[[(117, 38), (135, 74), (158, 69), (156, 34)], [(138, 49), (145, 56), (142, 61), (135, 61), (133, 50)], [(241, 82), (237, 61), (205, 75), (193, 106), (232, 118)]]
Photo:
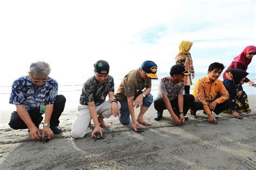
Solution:
[[(215, 99), (218, 93), (221, 97)], [(220, 104), (230, 97), (221, 80), (217, 79), (211, 83), (208, 76), (203, 77), (196, 82), (194, 85), (193, 96), (203, 103), (204, 111), (207, 114), (212, 113), (209, 109), (210, 103), (216, 101)]]

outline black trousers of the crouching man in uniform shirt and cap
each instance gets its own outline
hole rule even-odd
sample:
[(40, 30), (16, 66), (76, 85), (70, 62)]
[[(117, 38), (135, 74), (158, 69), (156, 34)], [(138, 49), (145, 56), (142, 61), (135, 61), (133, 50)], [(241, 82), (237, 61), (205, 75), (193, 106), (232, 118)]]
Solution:
[[(194, 103), (194, 96), (192, 94), (184, 94), (183, 99), (184, 99), (183, 113), (184, 115), (186, 115), (188, 109)], [(176, 97), (173, 100), (170, 100), (170, 103), (172, 105), (173, 112), (179, 117), (178, 97)], [(154, 108), (158, 112), (163, 113), (163, 111), (166, 110), (164, 99), (158, 96), (157, 99), (154, 100)]]

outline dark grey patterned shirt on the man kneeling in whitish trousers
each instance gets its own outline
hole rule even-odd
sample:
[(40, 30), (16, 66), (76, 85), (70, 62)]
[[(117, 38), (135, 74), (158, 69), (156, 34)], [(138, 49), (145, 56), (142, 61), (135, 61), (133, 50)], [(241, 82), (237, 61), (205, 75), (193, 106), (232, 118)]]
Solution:
[(95, 76), (89, 78), (83, 86), (80, 96), (80, 104), (88, 105), (87, 102), (94, 101), (95, 106), (102, 104), (107, 94), (114, 92), (114, 79), (112, 76), (106, 79), (103, 85), (100, 85)]

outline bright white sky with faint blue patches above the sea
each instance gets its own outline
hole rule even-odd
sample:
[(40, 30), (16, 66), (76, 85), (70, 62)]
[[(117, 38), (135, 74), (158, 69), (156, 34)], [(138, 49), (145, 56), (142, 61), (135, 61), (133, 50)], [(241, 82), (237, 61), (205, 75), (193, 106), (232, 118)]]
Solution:
[[(169, 72), (182, 40), (193, 42), (194, 69), (226, 68), (256, 45), (256, 1), (0, 1), (0, 85), (24, 76), (37, 60), (64, 82), (93, 75), (104, 59), (124, 76), (145, 60)], [(255, 57), (248, 72), (255, 73)], [(249, 74), (250, 77), (250, 74)]]

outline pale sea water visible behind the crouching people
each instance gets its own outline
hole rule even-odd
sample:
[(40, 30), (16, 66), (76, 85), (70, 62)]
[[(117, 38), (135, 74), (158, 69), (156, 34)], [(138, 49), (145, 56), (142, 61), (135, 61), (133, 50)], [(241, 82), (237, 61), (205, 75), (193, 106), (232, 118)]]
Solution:
[[(190, 87), (190, 93), (193, 92), (194, 88), (194, 83), (202, 77), (205, 77), (207, 73), (204, 72), (196, 72), (194, 79), (192, 79), (193, 85)], [(90, 75), (90, 76), (93, 76)], [(64, 94), (67, 103), (66, 107), (70, 105), (78, 105), (79, 104), (79, 99), (80, 99), (80, 94), (82, 92), (82, 87), (84, 82), (89, 78), (90, 76), (84, 77), (84, 76), (76, 76), (72, 78), (62, 78), (62, 77), (52, 77), (53, 79), (56, 79), (59, 84), (59, 94)], [(125, 76), (125, 73), (118, 73), (118, 74), (112, 74), (114, 78), (114, 89), (115, 92), (117, 91), (118, 86), (120, 85), (123, 77)], [(158, 84), (161, 78), (170, 76), (169, 72), (160, 72), (158, 73), (158, 79), (157, 80), (152, 80), (152, 87), (151, 87), (151, 94), (154, 96), (154, 98), (157, 97), (158, 94)], [(5, 79), (5, 81), (2, 81), (0, 83), (0, 102), (1, 102), (1, 108), (6, 108), (10, 107), (9, 104), (9, 97), (10, 97), (10, 92), (11, 92), (11, 85), (15, 79), (18, 77), (14, 78), (13, 76), (9, 76), (8, 79)], [(250, 73), (250, 77), (248, 76), (252, 81), (256, 83), (256, 74), (255, 73)], [(220, 79), (223, 80), (223, 75), (221, 74)], [(244, 91), (248, 95), (255, 95), (256, 94), (256, 88), (249, 86), (247, 83), (243, 85)]]

